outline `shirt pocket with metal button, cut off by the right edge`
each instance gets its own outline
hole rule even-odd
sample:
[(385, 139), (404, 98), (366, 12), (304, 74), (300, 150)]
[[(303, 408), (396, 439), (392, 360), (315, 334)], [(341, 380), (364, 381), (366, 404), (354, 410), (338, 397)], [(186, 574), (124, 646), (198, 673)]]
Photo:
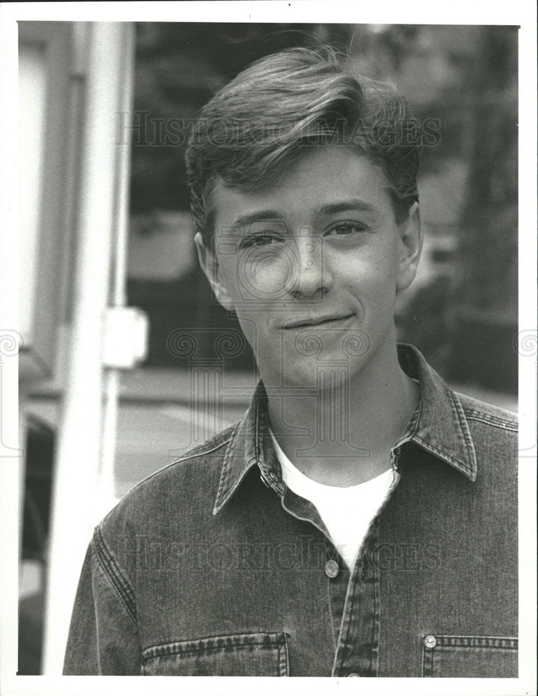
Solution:
[(424, 635), (422, 677), (517, 677), (518, 639)]

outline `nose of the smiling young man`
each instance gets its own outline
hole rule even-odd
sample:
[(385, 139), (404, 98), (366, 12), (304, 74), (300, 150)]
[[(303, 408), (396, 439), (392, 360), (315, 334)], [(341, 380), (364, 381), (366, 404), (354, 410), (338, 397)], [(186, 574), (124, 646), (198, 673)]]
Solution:
[(294, 267), (289, 285), (294, 298), (323, 295), (332, 287), (328, 260), (323, 255), (323, 239), (312, 235), (296, 238)]

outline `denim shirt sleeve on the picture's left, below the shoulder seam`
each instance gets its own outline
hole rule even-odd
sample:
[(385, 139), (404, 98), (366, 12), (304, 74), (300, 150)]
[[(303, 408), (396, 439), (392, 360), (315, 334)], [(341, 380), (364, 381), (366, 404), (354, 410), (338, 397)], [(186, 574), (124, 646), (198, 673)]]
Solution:
[(140, 674), (136, 619), (103, 567), (95, 537), (86, 551), (72, 610), (63, 674)]

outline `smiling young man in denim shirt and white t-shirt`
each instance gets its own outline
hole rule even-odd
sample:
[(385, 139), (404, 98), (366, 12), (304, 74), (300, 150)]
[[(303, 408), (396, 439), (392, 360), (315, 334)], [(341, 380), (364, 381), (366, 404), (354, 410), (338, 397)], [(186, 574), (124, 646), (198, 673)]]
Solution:
[(203, 109), (196, 244), (261, 381), (96, 528), (66, 674), (517, 675), (516, 422), (397, 347), (410, 118), (330, 50)]

